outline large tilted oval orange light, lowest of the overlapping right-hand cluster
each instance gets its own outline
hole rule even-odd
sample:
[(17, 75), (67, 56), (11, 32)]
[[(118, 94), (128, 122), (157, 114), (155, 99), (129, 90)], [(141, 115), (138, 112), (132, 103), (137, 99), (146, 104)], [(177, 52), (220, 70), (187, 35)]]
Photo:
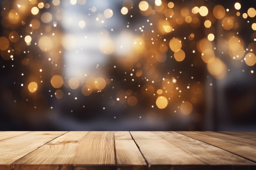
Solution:
[(216, 79), (223, 79), (227, 74), (226, 64), (217, 57), (212, 62), (207, 63), (207, 69)]

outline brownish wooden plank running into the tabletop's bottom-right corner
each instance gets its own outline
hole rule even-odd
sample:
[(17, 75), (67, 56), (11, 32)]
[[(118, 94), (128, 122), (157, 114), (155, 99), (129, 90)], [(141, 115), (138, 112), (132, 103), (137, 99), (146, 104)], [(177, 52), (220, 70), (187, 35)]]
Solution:
[[(217, 148), (215, 146), (206, 144), (202, 141), (186, 137), (176, 132), (155, 132), (160, 137), (170, 141), (178, 147), (186, 150), (191, 155), (194, 155), (201, 161), (209, 165), (254, 165), (252, 161), (248, 161), (242, 157), (234, 155), (230, 152)], [(227, 168), (227, 167), (226, 167)]]

